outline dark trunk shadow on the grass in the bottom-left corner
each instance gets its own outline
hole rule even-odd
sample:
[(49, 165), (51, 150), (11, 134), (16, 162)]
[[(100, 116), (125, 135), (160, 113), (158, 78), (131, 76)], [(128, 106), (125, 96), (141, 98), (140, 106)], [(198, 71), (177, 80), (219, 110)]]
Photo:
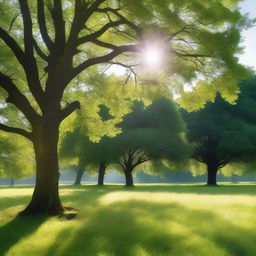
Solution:
[(4, 255), (14, 244), (35, 232), (45, 220), (45, 216), (29, 218), (17, 216), (0, 227), (0, 255)]

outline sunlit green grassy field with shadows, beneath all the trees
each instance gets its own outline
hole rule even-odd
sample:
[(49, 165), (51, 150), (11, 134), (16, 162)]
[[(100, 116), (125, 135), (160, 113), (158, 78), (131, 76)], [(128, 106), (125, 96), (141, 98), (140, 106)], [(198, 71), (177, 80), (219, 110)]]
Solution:
[(76, 219), (15, 217), (31, 193), (0, 189), (0, 255), (256, 255), (256, 185), (66, 186)]

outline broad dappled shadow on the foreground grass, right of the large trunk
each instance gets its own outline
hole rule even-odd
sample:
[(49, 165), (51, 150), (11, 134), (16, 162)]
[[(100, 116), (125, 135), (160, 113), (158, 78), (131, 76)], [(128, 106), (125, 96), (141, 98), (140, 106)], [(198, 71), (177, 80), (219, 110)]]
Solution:
[(99, 206), (89, 217), (80, 216), (80, 224), (59, 233), (45, 255), (256, 255), (255, 231), (177, 203)]

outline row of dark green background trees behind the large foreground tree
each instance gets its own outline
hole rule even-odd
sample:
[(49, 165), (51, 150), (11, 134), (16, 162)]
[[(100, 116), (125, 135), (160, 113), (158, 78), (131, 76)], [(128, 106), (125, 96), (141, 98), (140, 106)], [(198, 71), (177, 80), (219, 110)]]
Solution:
[[(76, 185), (86, 170), (98, 173), (103, 185), (107, 169), (125, 176), (126, 186), (133, 185), (135, 169), (155, 174), (165, 168), (199, 168), (207, 173), (207, 185), (217, 185), (218, 171), (253, 169), (256, 153), (256, 79), (240, 84), (241, 93), (235, 105), (217, 95), (214, 102), (195, 112), (179, 109), (170, 99), (160, 98), (150, 106), (134, 102), (132, 112), (119, 124), (122, 133), (103, 137), (93, 143), (81, 129), (65, 134), (60, 147), (61, 159), (74, 161)], [(195, 161), (193, 161), (195, 160)], [(149, 162), (147, 166), (144, 163)], [(193, 166), (194, 165), (194, 166)]]

